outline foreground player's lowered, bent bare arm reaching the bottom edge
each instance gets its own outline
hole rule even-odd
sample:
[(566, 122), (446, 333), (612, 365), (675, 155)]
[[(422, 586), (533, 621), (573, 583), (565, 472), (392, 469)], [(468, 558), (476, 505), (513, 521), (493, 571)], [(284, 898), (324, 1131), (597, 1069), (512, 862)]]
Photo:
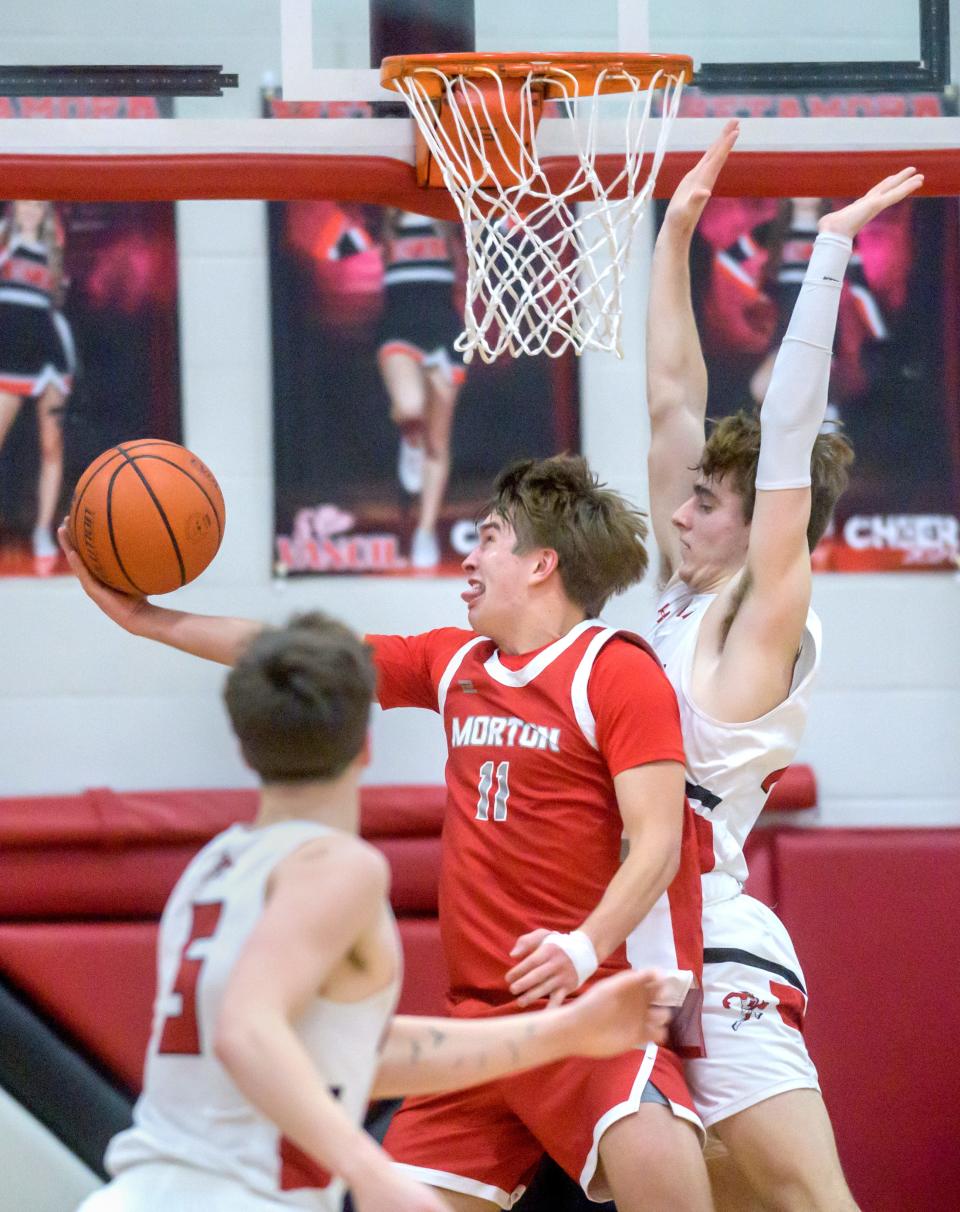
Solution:
[(284, 1136), (344, 1179), (358, 1212), (445, 1212), (352, 1122), (292, 1027), (372, 928), (387, 887), (385, 862), (355, 839), (312, 842), (280, 863), (228, 982), (215, 1051)]

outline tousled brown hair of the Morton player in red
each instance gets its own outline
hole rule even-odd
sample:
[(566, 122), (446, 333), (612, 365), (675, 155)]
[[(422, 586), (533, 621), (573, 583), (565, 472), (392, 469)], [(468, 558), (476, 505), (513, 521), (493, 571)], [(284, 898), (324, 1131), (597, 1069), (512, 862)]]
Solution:
[(513, 463), (497, 476), (487, 514), (513, 526), (516, 551), (556, 551), (567, 598), (590, 617), (646, 572), (644, 514), (601, 485), (579, 454)]

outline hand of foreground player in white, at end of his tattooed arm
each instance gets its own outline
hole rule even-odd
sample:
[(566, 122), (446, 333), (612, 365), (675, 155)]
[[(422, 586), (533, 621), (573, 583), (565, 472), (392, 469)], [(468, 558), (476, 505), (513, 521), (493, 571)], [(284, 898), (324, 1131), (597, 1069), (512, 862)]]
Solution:
[(665, 1007), (656, 1005), (661, 993), (659, 974), (652, 970), (598, 981), (564, 1011), (575, 1019), (578, 1054), (616, 1056), (661, 1044), (670, 1018)]

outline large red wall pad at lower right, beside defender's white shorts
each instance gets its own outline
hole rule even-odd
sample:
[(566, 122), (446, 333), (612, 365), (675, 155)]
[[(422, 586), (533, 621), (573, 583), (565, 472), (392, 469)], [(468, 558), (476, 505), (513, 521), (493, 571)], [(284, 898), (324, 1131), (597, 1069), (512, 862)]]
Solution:
[(773, 853), (859, 1206), (960, 1207), (960, 829), (784, 830)]

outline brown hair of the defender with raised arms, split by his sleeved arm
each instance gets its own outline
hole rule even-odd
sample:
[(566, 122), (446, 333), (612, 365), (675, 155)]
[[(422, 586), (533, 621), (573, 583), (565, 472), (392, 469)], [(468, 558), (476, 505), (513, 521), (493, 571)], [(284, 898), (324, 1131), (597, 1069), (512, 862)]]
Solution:
[[(760, 457), (760, 417), (744, 411), (712, 423), (713, 428), (697, 464), (708, 480), (721, 476), (739, 493), (745, 521), (756, 503), (756, 461)], [(834, 507), (850, 480), (853, 447), (840, 433), (818, 434), (810, 458), (811, 507), (807, 545), (812, 551), (823, 537)]]

